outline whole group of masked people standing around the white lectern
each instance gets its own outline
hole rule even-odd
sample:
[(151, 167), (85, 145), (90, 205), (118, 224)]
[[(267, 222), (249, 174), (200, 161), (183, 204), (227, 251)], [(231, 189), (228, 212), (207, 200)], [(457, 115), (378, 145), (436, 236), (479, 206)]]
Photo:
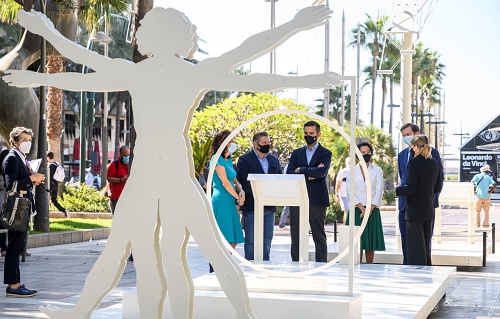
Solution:
[[(217, 152), (230, 131), (220, 132), (213, 140), (211, 153)], [(429, 145), (428, 138), (421, 135), (417, 125), (407, 123), (401, 127), (401, 134), (408, 145), (398, 155), (399, 228), (403, 247), (403, 263), (431, 265), (431, 237), (434, 225), (434, 209), (443, 186), (443, 168), (437, 150)], [(309, 225), (315, 244), (317, 262), (327, 261), (325, 233), (326, 208), (330, 205), (326, 176), (330, 168), (332, 153), (318, 141), (320, 125), (315, 121), (304, 124), (306, 145), (294, 150), (286, 167), (286, 174), (305, 175), (309, 195)], [(339, 172), (335, 200), (344, 210), (344, 221), (349, 223), (349, 198), (354, 199), (355, 224), (361, 225), (363, 218), (369, 218), (360, 240), (360, 259), (363, 252), (367, 263), (374, 262), (375, 251), (385, 250), (385, 241), (380, 215), (384, 181), (382, 169), (372, 163), (373, 146), (368, 142), (357, 145), (362, 160), (366, 163), (371, 184), (371, 205), (367, 207), (367, 182), (364, 171), (358, 163), (355, 180), (350, 180), (346, 168)], [(244, 243), (245, 258), (254, 259), (254, 198), (248, 174), (282, 174), (276, 157), (269, 154), (270, 137), (266, 132), (256, 133), (252, 138), (252, 149), (233, 165), (231, 154), (237, 149), (234, 140), (226, 146), (217, 160), (213, 178), (212, 205), (215, 219), (226, 240), (233, 246)], [(355, 183), (355, 194), (350, 194), (349, 185)], [(238, 209), (243, 215), (243, 227)], [(292, 261), (299, 260), (299, 208), (290, 209), (290, 235)], [(264, 208), (264, 260), (269, 260), (274, 230), (276, 207)], [(346, 218), (347, 216), (347, 218)]]

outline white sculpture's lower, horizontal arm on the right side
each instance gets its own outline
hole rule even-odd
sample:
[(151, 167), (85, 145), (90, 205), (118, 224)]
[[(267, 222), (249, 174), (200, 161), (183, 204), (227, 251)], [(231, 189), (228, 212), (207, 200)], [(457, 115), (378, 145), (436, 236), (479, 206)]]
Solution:
[(334, 72), (305, 76), (282, 76), (264, 73), (251, 75), (224, 74), (211, 78), (210, 89), (216, 91), (277, 91), (288, 88), (322, 89), (337, 86), (341, 76)]

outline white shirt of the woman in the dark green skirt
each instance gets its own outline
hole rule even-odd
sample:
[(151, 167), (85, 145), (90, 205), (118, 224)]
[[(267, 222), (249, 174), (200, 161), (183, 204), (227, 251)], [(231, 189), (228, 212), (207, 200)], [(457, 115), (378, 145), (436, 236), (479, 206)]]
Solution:
[[(372, 205), (380, 207), (382, 204), (382, 194), (384, 192), (384, 182), (382, 178), (382, 169), (377, 165), (370, 163), (368, 166), (370, 181), (372, 184)], [(347, 193), (349, 194), (349, 174), (347, 174)], [(366, 206), (366, 183), (361, 174), (361, 167), (356, 165), (356, 194), (355, 204)]]

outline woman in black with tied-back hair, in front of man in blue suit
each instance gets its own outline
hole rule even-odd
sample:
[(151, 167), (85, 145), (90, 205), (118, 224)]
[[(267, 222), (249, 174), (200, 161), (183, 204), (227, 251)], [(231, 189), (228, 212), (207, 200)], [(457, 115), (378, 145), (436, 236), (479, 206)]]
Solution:
[(432, 266), (431, 239), (434, 223), (434, 194), (441, 192), (438, 162), (431, 157), (425, 135), (415, 135), (410, 143), (415, 157), (408, 161), (406, 185), (396, 188), (406, 196), (406, 250), (408, 265)]

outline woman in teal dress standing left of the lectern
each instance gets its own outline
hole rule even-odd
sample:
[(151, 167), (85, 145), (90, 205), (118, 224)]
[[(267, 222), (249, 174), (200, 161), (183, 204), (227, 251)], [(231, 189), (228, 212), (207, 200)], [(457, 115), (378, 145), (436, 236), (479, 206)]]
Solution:
[[(212, 158), (210, 164), (214, 161), (214, 155), (226, 137), (231, 134), (224, 130), (217, 134), (210, 147)], [(243, 205), (245, 201), (245, 192), (236, 180), (236, 171), (233, 168), (231, 153), (236, 150), (237, 145), (231, 141), (222, 152), (215, 166), (216, 174), (213, 175), (212, 182), (212, 208), (215, 220), (219, 225), (222, 235), (231, 244), (233, 248), (237, 244), (243, 243), (243, 230), (241, 228), (240, 217), (236, 210), (236, 204)]]

